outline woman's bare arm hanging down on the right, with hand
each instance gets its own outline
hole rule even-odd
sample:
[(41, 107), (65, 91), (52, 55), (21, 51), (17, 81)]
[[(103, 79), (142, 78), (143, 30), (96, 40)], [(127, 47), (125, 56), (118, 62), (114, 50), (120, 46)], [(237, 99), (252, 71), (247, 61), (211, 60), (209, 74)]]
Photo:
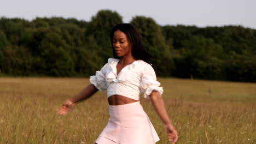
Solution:
[(150, 94), (150, 100), (152, 101), (156, 113), (158, 113), (162, 122), (165, 124), (168, 139), (172, 142), (172, 144), (176, 143), (178, 140), (178, 133), (173, 127), (171, 120), (167, 115), (164, 100), (162, 99), (159, 92), (153, 91)]

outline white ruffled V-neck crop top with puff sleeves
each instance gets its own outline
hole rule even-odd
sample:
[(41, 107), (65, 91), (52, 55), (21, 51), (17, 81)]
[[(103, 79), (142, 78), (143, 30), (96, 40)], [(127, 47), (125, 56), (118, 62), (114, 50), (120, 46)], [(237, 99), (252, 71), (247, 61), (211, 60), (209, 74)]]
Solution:
[(107, 96), (122, 95), (127, 98), (139, 100), (143, 92), (144, 98), (149, 98), (152, 91), (162, 95), (163, 89), (156, 81), (155, 71), (152, 66), (142, 60), (126, 65), (117, 75), (119, 59), (109, 58), (108, 63), (96, 71), (95, 76), (90, 76), (90, 82), (100, 91), (107, 90)]

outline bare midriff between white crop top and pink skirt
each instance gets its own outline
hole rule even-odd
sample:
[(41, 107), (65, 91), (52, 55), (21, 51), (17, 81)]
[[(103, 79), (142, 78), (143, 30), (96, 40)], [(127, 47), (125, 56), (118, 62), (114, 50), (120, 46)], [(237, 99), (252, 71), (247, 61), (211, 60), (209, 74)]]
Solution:
[(122, 95), (111, 95), (108, 98), (109, 105), (125, 105), (125, 104), (134, 103), (136, 101), (139, 101), (139, 100), (130, 99)]

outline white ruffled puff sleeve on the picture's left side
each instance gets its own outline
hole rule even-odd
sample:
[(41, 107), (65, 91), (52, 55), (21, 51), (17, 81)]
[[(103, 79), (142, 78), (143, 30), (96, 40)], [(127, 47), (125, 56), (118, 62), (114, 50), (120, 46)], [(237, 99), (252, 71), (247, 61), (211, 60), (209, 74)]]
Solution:
[(107, 82), (105, 76), (107, 65), (108, 63), (105, 64), (100, 71), (96, 71), (96, 74), (94, 76), (90, 76), (91, 84), (94, 85), (100, 91), (106, 91), (107, 89)]

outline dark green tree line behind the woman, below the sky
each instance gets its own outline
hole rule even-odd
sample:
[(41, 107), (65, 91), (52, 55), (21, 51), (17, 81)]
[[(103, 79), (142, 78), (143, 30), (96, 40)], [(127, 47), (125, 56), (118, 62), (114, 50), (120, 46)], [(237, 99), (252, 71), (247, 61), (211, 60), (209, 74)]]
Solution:
[[(100, 10), (91, 21), (1, 17), (0, 75), (90, 76), (112, 57), (110, 30), (122, 23)], [(242, 26), (160, 26), (130, 21), (141, 33), (158, 76), (256, 82), (256, 30)]]

